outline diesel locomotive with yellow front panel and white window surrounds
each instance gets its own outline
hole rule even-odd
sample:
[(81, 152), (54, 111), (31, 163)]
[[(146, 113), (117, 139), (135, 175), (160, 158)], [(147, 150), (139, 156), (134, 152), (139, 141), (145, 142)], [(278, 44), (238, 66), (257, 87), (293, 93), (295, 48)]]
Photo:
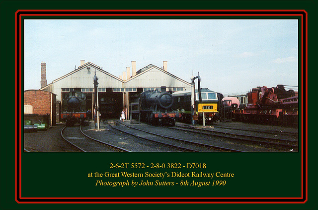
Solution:
[[(202, 102), (199, 100), (199, 91), (197, 89), (195, 90), (195, 110), (199, 123), (203, 122), (204, 112), (205, 121), (212, 124), (220, 119), (219, 112), (221, 111), (223, 95), (207, 88), (202, 88), (200, 91)], [(191, 91), (175, 92), (172, 96), (174, 100), (172, 108), (181, 113), (183, 121), (191, 122)]]

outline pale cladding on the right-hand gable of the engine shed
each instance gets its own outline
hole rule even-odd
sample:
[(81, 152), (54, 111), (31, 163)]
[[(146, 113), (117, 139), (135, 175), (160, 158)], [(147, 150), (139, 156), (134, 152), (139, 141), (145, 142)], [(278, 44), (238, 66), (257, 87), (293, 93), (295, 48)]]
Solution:
[(125, 84), (126, 88), (159, 88), (161, 86), (184, 87), (186, 90), (190, 90), (191, 88), (191, 85), (186, 82), (166, 74), (157, 68), (153, 68), (144, 74), (140, 74)]

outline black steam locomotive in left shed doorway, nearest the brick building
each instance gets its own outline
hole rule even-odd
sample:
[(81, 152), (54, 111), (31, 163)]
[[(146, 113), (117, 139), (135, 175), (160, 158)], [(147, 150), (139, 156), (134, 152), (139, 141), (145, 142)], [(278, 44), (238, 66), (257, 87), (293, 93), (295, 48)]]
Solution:
[(75, 123), (84, 124), (86, 119), (86, 94), (80, 91), (66, 93), (62, 99), (61, 120), (67, 126)]

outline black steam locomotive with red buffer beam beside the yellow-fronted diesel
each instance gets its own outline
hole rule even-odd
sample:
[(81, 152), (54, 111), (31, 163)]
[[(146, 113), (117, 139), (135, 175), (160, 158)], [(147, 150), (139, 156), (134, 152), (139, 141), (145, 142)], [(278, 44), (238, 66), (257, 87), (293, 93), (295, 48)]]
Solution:
[(155, 91), (145, 91), (140, 94), (140, 118), (151, 124), (175, 124), (180, 116), (178, 111), (171, 109), (173, 97), (165, 92), (165, 87)]

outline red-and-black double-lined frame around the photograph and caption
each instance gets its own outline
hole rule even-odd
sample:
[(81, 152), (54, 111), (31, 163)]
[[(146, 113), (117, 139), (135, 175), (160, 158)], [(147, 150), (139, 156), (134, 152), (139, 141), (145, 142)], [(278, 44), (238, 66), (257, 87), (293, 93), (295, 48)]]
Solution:
[[(302, 194), (299, 198), (22, 198), (21, 196), (21, 18), (22, 16), (298, 16), (301, 19), (301, 157)], [(17, 10), (15, 13), (15, 201), (19, 204), (304, 204), (308, 197), (308, 13), (305, 10)], [(304, 83), (305, 81), (305, 83)], [(305, 94), (305, 97), (304, 97)], [(305, 100), (305, 101), (304, 101)], [(305, 105), (305, 106), (304, 106)], [(305, 120), (305, 121), (304, 121)]]

